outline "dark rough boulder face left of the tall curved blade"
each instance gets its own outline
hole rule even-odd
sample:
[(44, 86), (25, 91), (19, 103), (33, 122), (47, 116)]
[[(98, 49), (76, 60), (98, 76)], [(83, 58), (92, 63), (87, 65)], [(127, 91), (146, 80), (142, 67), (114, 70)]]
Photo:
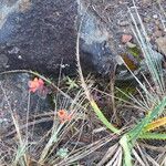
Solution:
[[(29, 8), (20, 9), (25, 1), (30, 3)], [(66, 66), (74, 63), (75, 0), (23, 0), (11, 6), (4, 3), (1, 7), (4, 12), (0, 29), (0, 55), (8, 56), (9, 70), (30, 69), (56, 73), (62, 61)]]

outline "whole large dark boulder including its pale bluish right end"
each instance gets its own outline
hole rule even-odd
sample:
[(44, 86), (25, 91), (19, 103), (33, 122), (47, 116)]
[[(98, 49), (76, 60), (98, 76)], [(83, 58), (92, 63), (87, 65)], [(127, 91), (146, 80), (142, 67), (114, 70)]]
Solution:
[(114, 63), (108, 33), (83, 2), (1, 0), (0, 72), (28, 69), (55, 75), (62, 66), (65, 73), (73, 74), (80, 25), (83, 69), (110, 72)]

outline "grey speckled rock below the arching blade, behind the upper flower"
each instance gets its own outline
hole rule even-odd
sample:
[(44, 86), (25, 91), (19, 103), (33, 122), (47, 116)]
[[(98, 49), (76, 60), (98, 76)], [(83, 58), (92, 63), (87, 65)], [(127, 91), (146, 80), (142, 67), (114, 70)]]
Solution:
[[(14, 115), (20, 126), (37, 115), (53, 108), (50, 95), (29, 93), (28, 82), (31, 75), (28, 73), (11, 73), (0, 75), (0, 134), (10, 133), (13, 126), (11, 114)], [(33, 117), (33, 118), (32, 118)], [(8, 131), (9, 129), (9, 131)]]

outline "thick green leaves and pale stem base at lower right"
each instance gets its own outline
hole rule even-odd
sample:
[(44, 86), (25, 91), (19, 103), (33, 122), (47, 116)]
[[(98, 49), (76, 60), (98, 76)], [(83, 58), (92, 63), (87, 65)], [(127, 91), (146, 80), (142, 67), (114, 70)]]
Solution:
[(120, 144), (123, 147), (124, 151), (124, 166), (132, 166), (132, 147), (134, 145), (134, 142), (137, 138), (166, 138), (166, 134), (152, 134), (152, 133), (144, 133), (144, 127), (151, 123), (156, 116), (163, 113), (164, 108), (166, 106), (166, 97), (163, 98), (163, 101), (148, 113), (148, 115), (143, 118), (141, 123), (138, 123), (132, 131), (129, 131), (127, 134), (125, 134), (121, 139)]

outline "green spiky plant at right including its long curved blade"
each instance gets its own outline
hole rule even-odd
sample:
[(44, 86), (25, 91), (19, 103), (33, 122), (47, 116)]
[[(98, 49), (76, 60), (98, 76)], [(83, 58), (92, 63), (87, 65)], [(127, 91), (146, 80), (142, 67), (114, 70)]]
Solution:
[[(146, 81), (147, 85), (142, 83), (141, 80), (138, 80), (138, 77), (129, 70), (129, 68), (123, 61), (123, 59), (120, 58), (121, 61), (126, 65), (126, 68), (131, 72), (131, 74), (135, 77), (135, 80), (137, 81), (139, 87), (142, 89), (142, 91), (139, 93), (141, 93), (141, 96), (143, 97), (143, 101), (137, 100), (132, 95), (131, 95), (131, 97), (147, 114), (129, 132), (126, 132), (125, 134), (123, 134), (123, 132), (122, 132), (123, 129), (117, 129), (116, 127), (114, 127), (106, 120), (106, 117), (103, 115), (102, 111), (100, 110), (100, 107), (97, 106), (95, 101), (93, 100), (93, 97), (90, 93), (90, 90), (87, 89), (87, 85), (84, 81), (83, 73), (82, 73), (82, 70), (81, 70), (80, 53), (79, 53), (80, 33), (77, 35), (77, 46), (76, 46), (77, 69), (79, 69), (79, 74), (80, 74), (80, 79), (81, 79), (81, 82), (82, 82), (82, 87), (85, 92), (85, 95), (86, 95), (93, 111), (95, 112), (95, 114), (97, 115), (100, 121), (114, 134), (122, 135), (122, 137), (120, 139), (120, 145), (122, 146), (123, 153), (124, 153), (124, 155), (123, 155), (124, 156), (124, 158), (123, 158), (123, 165), (124, 166), (132, 166), (133, 165), (132, 164), (132, 152), (134, 151), (134, 146), (135, 146), (136, 141), (138, 138), (146, 138), (146, 139), (165, 139), (166, 138), (165, 133), (160, 134), (160, 133), (151, 133), (151, 132), (148, 132), (148, 128), (154, 129), (158, 126), (165, 125), (165, 117), (157, 120), (156, 123), (155, 123), (155, 120), (164, 114), (165, 106), (166, 106), (166, 97), (165, 97), (166, 91), (165, 91), (164, 73), (163, 73), (163, 69), (162, 69), (162, 59), (158, 59), (162, 55), (152, 49), (152, 45), (148, 42), (147, 33), (145, 31), (144, 24), (143, 24), (142, 19), (138, 14), (138, 11), (136, 9), (134, 0), (133, 0), (133, 4), (134, 4), (134, 10), (135, 10), (134, 12), (136, 13), (137, 18), (134, 18), (133, 11), (131, 11), (131, 9), (128, 9), (132, 21), (134, 22), (134, 27), (132, 27), (132, 30), (133, 30), (136, 39), (137, 39), (137, 42), (138, 42), (138, 44), (142, 49), (142, 52), (144, 54), (145, 64), (146, 64), (146, 68), (148, 69), (148, 73), (151, 74), (151, 79), (152, 79), (152, 82), (155, 86), (155, 90), (152, 89), (153, 91), (151, 92), (147, 87), (147, 85), (151, 86), (151, 83), (147, 81), (146, 76), (144, 76), (144, 77), (145, 77), (145, 81)], [(136, 19), (141, 23), (141, 30), (137, 25)], [(122, 156), (121, 148), (118, 151), (120, 151), (118, 155), (116, 153), (114, 156), (112, 156), (112, 159), (108, 162), (111, 164), (108, 164), (108, 165), (113, 165), (113, 163), (114, 163), (114, 165), (121, 165), (121, 162), (120, 162), (121, 159), (117, 160), (117, 162), (114, 160), (116, 158), (115, 157), (116, 155), (120, 156), (120, 158), (122, 158), (121, 157)], [(135, 153), (135, 151), (134, 151), (134, 154), (138, 158), (138, 155)], [(141, 159), (138, 159), (138, 160), (141, 160)]]

